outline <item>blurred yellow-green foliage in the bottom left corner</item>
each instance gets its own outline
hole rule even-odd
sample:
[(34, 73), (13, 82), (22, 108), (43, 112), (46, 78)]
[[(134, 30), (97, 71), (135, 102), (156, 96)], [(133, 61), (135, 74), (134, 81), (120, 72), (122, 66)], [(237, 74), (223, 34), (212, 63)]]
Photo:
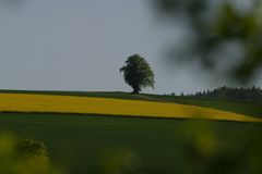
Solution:
[(34, 140), (19, 140), (9, 133), (0, 133), (1, 174), (62, 174), (49, 161), (46, 147)]

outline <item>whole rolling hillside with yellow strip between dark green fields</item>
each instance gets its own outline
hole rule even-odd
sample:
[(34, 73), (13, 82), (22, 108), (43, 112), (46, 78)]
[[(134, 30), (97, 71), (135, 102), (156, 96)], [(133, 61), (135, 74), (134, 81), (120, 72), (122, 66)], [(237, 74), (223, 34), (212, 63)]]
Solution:
[(0, 132), (44, 141), (51, 162), (70, 174), (195, 173), (199, 166), (241, 174), (261, 166), (262, 128), (251, 117), (259, 109), (124, 92), (2, 91)]

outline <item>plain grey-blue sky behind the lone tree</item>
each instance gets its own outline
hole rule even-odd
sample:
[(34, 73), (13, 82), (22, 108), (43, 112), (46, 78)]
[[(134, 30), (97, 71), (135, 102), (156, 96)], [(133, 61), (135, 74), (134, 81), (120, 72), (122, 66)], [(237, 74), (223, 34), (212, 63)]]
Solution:
[(155, 72), (155, 89), (145, 92), (193, 92), (226, 83), (198, 62), (166, 61), (183, 28), (163, 25), (148, 1), (12, 1), (0, 0), (0, 89), (131, 91), (119, 69), (134, 53)]

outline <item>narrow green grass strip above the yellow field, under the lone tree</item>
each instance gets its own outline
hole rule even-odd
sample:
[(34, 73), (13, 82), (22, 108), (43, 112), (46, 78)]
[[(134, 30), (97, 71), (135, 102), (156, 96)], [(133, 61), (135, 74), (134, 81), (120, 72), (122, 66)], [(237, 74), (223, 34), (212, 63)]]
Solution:
[(0, 94), (39, 94), (39, 95), (60, 95), (60, 96), (78, 96), (78, 97), (100, 97), (100, 98), (116, 98), (130, 99), (143, 101), (159, 101), (159, 102), (175, 102), (189, 105), (206, 107), (218, 109), (222, 111), (229, 111), (239, 114), (246, 114), (255, 117), (262, 117), (262, 101), (248, 102), (236, 100), (216, 100), (216, 99), (196, 99), (189, 97), (172, 97), (162, 95), (133, 95), (129, 92), (106, 92), (106, 91), (39, 91), (39, 90), (0, 90)]

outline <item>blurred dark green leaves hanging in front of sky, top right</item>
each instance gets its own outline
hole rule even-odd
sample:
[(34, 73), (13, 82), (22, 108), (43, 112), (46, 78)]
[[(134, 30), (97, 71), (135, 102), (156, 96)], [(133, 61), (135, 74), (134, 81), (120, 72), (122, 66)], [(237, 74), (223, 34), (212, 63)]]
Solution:
[[(262, 1), (153, 0), (165, 17), (189, 34), (171, 57), (200, 60), (211, 73), (248, 83), (262, 65)], [(176, 23), (179, 18), (179, 23)], [(218, 71), (215, 71), (217, 70)]]

